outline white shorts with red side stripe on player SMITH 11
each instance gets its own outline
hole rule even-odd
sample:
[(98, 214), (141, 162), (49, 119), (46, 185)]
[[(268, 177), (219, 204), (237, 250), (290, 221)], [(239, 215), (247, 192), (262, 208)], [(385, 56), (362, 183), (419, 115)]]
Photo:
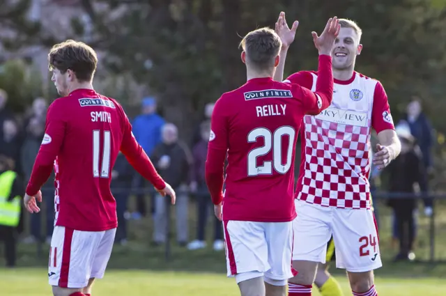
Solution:
[(55, 226), (49, 249), (51, 286), (84, 288), (89, 279), (102, 279), (109, 262), (116, 228), (109, 231), (75, 231)]

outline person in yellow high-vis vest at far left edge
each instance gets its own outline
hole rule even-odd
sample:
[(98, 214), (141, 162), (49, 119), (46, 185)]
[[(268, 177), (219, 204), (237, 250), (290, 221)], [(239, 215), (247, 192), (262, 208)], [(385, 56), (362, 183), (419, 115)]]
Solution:
[(23, 187), (8, 163), (6, 157), (0, 156), (0, 240), (5, 244), (6, 266), (14, 267)]

